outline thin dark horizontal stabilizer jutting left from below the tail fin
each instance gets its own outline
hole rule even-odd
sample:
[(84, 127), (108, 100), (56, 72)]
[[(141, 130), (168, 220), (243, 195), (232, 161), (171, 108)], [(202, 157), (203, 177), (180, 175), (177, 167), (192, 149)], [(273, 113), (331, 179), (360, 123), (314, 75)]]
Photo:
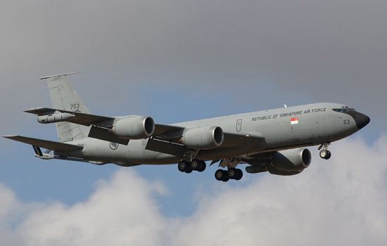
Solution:
[(82, 146), (78, 146), (78, 145), (72, 145), (68, 143), (58, 143), (54, 141), (42, 140), (37, 138), (27, 138), (25, 136), (3, 136), (3, 137), (14, 141), (19, 141), (22, 143), (27, 143), (33, 146), (42, 147), (47, 150), (54, 150), (54, 151), (70, 152), (70, 151), (80, 150), (83, 148)]

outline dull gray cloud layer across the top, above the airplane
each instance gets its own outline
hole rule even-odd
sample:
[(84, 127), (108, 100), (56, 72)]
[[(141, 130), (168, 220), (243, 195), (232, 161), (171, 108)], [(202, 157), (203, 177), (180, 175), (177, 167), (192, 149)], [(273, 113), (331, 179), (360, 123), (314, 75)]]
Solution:
[(272, 105), (284, 94), (294, 95), (288, 104), (348, 103), (383, 129), (386, 8), (379, 0), (3, 1), (2, 110), (46, 103), (42, 75), (86, 70), (77, 84), (85, 101), (135, 104), (139, 84), (179, 84), (260, 105), (274, 84)]

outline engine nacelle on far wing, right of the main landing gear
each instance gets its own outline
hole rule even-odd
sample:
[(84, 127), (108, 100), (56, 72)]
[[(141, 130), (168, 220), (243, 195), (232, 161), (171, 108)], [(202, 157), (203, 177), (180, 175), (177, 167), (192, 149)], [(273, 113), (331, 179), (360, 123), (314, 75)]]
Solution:
[(302, 171), (309, 167), (312, 155), (307, 148), (282, 150), (274, 154), (272, 164), (279, 171)]

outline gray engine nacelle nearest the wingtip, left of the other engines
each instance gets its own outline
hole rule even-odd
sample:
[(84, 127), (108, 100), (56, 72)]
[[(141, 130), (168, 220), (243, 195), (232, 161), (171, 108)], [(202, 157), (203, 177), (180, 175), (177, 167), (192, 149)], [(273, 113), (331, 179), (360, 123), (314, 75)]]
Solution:
[(113, 134), (125, 139), (142, 139), (153, 135), (155, 122), (151, 117), (129, 116), (118, 119), (112, 128)]

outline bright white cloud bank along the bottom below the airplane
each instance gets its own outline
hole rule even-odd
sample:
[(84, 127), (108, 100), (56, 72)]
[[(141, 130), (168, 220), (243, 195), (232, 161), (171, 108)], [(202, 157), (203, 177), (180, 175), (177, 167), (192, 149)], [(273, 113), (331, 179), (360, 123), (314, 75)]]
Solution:
[(239, 186), (224, 183), (221, 190), (203, 191), (196, 211), (186, 217), (164, 216), (158, 196), (167, 190), (133, 169), (99, 181), (86, 201), (70, 207), (60, 202), (23, 203), (0, 186), (0, 242), (386, 245), (387, 137), (372, 146), (351, 138), (331, 150), (331, 160), (315, 158), (297, 176), (246, 175), (250, 181)]

